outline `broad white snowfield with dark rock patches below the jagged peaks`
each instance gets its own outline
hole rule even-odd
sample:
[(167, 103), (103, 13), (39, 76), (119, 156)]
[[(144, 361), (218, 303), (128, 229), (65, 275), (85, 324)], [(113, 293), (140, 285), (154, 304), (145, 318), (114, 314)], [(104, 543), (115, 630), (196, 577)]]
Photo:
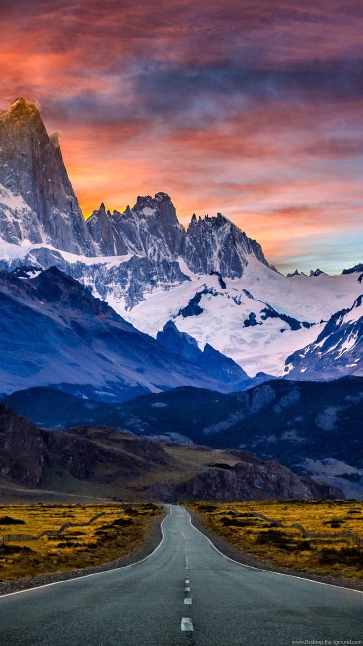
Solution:
[(200, 348), (211, 344), (251, 377), (283, 375), (286, 357), (313, 343), (331, 314), (362, 291), (357, 274), (291, 279), (251, 258), (241, 278), (189, 278), (145, 295), (125, 317), (152, 336), (171, 319)]

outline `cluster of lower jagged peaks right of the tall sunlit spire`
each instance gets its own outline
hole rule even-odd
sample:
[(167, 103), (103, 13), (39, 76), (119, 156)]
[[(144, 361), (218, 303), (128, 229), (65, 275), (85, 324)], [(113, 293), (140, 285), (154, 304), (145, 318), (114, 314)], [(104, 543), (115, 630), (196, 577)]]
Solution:
[(248, 256), (254, 255), (276, 271), (256, 240), (221, 213), (198, 219), (194, 214), (185, 231), (166, 193), (156, 193), (154, 198), (139, 196), (134, 207), (128, 206), (124, 213), (106, 213), (101, 204), (88, 218), (87, 227), (102, 256), (130, 253), (156, 261), (182, 258), (193, 273), (218, 271), (236, 278), (244, 273)]

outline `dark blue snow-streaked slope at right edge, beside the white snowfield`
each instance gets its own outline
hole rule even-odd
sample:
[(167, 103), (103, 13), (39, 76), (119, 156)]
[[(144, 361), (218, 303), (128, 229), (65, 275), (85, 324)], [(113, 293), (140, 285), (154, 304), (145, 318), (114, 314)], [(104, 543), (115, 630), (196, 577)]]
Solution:
[(329, 318), (315, 342), (287, 357), (285, 367), (291, 379), (333, 379), (362, 371), (363, 295)]

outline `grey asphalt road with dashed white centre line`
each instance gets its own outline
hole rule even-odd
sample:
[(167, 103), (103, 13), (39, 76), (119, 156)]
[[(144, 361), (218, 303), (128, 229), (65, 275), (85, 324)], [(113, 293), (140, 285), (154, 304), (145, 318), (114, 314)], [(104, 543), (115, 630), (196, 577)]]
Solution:
[(178, 506), (163, 532), (141, 563), (1, 597), (1, 646), (363, 644), (362, 593), (238, 565)]

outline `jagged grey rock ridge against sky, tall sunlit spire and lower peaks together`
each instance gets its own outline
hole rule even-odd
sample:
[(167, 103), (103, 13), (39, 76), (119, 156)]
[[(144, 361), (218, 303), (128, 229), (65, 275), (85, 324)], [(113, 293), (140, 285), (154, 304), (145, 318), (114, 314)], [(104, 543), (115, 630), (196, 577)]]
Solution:
[[(194, 216), (185, 231), (166, 193), (139, 196), (124, 213), (111, 214), (101, 204), (86, 222), (57, 136), (48, 136), (36, 105), (23, 97), (0, 114), (0, 189), (0, 237), (12, 244), (46, 243), (79, 255), (132, 254), (156, 262), (181, 256), (194, 273), (215, 270), (231, 277), (242, 275), (249, 255), (269, 266), (260, 245), (220, 213)], [(29, 207), (26, 226), (16, 226), (8, 211), (16, 198)]]

